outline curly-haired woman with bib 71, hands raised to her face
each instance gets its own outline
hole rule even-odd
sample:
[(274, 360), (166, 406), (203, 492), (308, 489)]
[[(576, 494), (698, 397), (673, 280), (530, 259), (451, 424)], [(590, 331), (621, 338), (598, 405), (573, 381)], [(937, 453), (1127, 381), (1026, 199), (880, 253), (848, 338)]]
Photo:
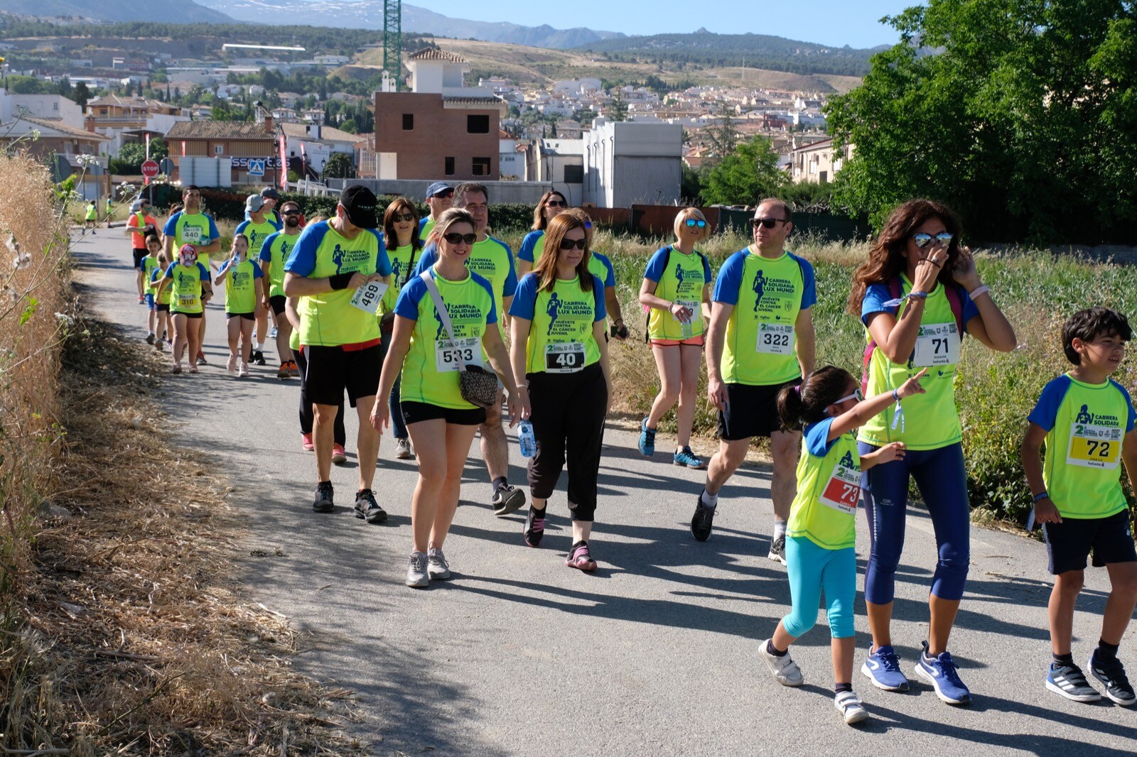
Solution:
[(1014, 330), (995, 305), (966, 247), (960, 222), (933, 200), (910, 200), (896, 208), (853, 276), (849, 313), (868, 332), (866, 394), (898, 389), (919, 371), (927, 393), (887, 408), (861, 426), (863, 456), (904, 442), (907, 454), (875, 466), (862, 479), (871, 552), (865, 604), (872, 647), (861, 671), (873, 685), (906, 691), (893, 648), (890, 624), (896, 566), (904, 548), (908, 480), (915, 479), (936, 531), (938, 560), (928, 597), (930, 623), (915, 672), (945, 702), (971, 701), (947, 651), (968, 579), (970, 507), (963, 467), (955, 366), (960, 341), (971, 334), (985, 347), (1010, 352)]

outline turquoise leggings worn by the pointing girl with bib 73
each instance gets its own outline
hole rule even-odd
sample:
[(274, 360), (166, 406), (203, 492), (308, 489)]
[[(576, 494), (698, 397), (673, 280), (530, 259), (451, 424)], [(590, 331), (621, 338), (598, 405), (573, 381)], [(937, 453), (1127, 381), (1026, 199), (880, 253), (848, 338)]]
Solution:
[(853, 635), (853, 600), (856, 598), (856, 550), (825, 549), (805, 536), (786, 538), (786, 572), (794, 602), (782, 618), (786, 633), (804, 637), (818, 622), (821, 590), (825, 590), (825, 614), (833, 639)]

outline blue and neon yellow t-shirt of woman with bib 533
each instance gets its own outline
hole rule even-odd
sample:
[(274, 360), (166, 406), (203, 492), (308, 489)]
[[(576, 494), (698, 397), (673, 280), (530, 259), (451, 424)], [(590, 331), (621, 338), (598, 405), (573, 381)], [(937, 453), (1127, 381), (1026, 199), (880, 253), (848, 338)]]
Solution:
[(410, 346), (402, 360), (399, 401), (426, 402), (454, 409), (472, 409), (458, 388), (458, 361), (482, 364), (482, 334), (497, 323), (490, 283), (475, 273), (463, 281), (449, 281), (433, 268), (429, 274), (450, 316), (454, 340), (434, 309), (422, 276), (414, 276), (395, 305), (395, 315), (415, 322)]

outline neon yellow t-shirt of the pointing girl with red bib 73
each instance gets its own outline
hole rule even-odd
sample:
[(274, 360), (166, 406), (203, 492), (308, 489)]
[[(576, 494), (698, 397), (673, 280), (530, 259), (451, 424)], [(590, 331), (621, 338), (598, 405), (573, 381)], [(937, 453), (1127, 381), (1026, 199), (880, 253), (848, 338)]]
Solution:
[(861, 456), (852, 432), (829, 441), (833, 421), (811, 423), (802, 434), (797, 496), (790, 506), (786, 535), (805, 536), (823, 549), (846, 549), (856, 541)]

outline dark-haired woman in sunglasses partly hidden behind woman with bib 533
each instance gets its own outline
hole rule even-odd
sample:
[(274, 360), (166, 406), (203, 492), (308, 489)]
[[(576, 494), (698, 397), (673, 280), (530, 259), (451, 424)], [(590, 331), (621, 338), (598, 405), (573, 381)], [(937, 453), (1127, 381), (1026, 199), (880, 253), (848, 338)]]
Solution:
[[(405, 197), (396, 198), (387, 206), (383, 214), (383, 241), (387, 243), (387, 257), (391, 259), (391, 285), (383, 292), (379, 305), (379, 328), (383, 333), (383, 352), (391, 347), (391, 333), (395, 328), (395, 303), (402, 286), (410, 280), (412, 272), (418, 264), (423, 242), (418, 236), (418, 211)], [(395, 433), (395, 457), (409, 460), (415, 456), (402, 423), (402, 409), (399, 407), (399, 378), (395, 378), (389, 398), (391, 406), (391, 427)]]

